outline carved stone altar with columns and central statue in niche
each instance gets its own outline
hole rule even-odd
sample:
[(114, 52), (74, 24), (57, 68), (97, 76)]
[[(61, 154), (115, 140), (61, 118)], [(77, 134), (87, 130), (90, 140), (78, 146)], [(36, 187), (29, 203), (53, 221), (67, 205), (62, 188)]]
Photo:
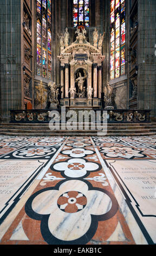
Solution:
[(102, 93), (102, 62), (101, 46), (95, 47), (86, 41), (85, 27), (77, 28), (76, 40), (62, 47), (60, 44), (61, 63), (61, 106), (71, 108), (99, 108)]

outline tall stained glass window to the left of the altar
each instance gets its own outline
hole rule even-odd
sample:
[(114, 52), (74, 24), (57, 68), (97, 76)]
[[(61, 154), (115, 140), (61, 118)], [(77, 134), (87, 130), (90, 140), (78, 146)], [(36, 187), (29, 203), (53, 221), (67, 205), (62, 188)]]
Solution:
[(36, 0), (37, 75), (51, 79), (51, 0)]

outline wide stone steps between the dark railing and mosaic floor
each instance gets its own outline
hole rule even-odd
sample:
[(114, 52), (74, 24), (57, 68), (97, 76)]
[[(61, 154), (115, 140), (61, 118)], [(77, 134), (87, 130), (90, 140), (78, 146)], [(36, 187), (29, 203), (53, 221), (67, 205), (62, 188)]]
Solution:
[[(86, 124), (86, 123), (85, 123)], [(0, 135), (8, 136), (97, 136), (97, 129), (91, 130), (54, 130), (49, 124), (1, 123)], [(77, 127), (77, 126), (76, 126)], [(108, 123), (106, 136), (148, 136), (156, 135), (156, 123)]]

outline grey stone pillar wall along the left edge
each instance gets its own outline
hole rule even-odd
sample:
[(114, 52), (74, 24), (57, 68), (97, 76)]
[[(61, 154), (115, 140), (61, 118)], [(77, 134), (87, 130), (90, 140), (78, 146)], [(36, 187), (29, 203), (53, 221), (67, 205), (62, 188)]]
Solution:
[(9, 109), (20, 109), (21, 93), (21, 1), (0, 0), (0, 111), (9, 119)]

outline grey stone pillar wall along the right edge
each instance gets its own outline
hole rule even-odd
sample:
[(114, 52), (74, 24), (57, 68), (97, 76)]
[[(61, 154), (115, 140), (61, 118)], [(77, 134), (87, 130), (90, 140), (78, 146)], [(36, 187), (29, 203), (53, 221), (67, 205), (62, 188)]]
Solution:
[(138, 1), (138, 102), (139, 109), (151, 109), (156, 116), (156, 2)]

